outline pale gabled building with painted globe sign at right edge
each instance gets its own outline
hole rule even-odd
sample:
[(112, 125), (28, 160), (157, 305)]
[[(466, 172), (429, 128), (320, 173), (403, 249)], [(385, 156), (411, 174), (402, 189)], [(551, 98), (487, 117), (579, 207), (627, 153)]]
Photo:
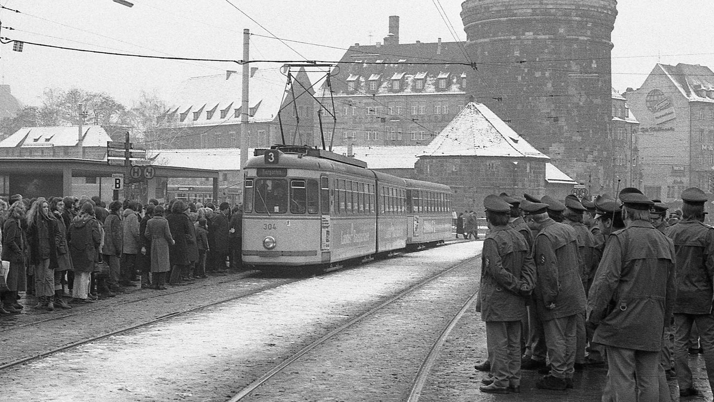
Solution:
[(640, 121), (640, 182), (645, 194), (678, 205), (683, 189), (714, 191), (714, 72), (657, 64), (639, 89), (623, 94)]

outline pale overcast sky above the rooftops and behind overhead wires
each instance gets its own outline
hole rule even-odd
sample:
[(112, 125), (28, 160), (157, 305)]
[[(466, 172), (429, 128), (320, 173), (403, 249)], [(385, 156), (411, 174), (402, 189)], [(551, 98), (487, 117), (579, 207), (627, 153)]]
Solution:
[[(251, 59), (337, 61), (348, 46), (382, 41), (388, 16), (398, 15), (401, 43), (466, 39), (461, 1), (131, 1), (134, 6), (129, 8), (112, 0), (0, 0), (1, 6), (20, 11), (0, 9), (1, 36), (117, 53), (240, 60), (243, 29), (250, 29)], [(705, 17), (711, 15), (710, 0), (620, 1), (612, 39), (613, 87), (638, 88), (658, 62), (714, 67), (714, 41), (709, 39), (714, 37), (714, 24)], [(283, 43), (273, 36), (311, 44)], [(72, 87), (106, 92), (126, 106), (142, 91), (171, 103), (182, 81), (226, 70), (240, 71), (241, 66), (136, 59), (32, 44), (16, 52), (12, 43), (0, 44), (1, 82), (26, 105), (41, 104), (46, 88)]]

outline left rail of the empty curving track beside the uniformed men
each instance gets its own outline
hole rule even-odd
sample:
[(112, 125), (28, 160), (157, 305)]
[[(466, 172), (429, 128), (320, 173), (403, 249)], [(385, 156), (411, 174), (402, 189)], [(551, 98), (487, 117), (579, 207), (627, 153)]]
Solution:
[(263, 376), (258, 378), (256, 381), (253, 381), (252, 383), (248, 384), (248, 386), (241, 389), (241, 391), (238, 391), (238, 393), (236, 393), (236, 395), (234, 395), (233, 398), (228, 399), (228, 401), (226, 401), (226, 402), (240, 401), (242, 398), (248, 396), (248, 394), (255, 391), (256, 388), (263, 385), (263, 383), (266, 383), (266, 381), (271, 379), (277, 373), (280, 373), (283, 370), (283, 368), (290, 366), (293, 362), (297, 361), (298, 358), (301, 358), (305, 353), (308, 353), (309, 351), (313, 350), (317, 346), (320, 346), (322, 343), (325, 343), (329, 339), (338, 335), (338, 333), (341, 333), (342, 331), (346, 330), (347, 328), (350, 328), (351, 326), (362, 321), (363, 319), (368, 318), (369, 316), (372, 316), (374, 313), (380, 311), (381, 309), (385, 308), (386, 306), (389, 306), (391, 303), (394, 303), (394, 302), (400, 300), (404, 296), (407, 296), (408, 294), (413, 293), (414, 291), (418, 290), (419, 288), (422, 288), (423, 286), (427, 285), (428, 283), (431, 283), (432, 281), (435, 281), (436, 279), (441, 278), (441, 276), (444, 276), (447, 273), (450, 273), (451, 271), (455, 271), (456, 269), (461, 268), (462, 266), (466, 265), (467, 263), (471, 263), (471, 261), (475, 260), (476, 258), (478, 258), (478, 256), (468, 258), (465, 261), (456, 263), (453, 266), (450, 266), (450, 267), (446, 268), (445, 270), (443, 270), (439, 273), (436, 273), (433, 276), (430, 276), (430, 277), (424, 279), (423, 281), (420, 281), (420, 282), (406, 288), (404, 291), (401, 291), (400, 293), (396, 294), (396, 296), (392, 296), (391, 298), (388, 298), (386, 301), (383, 301), (382, 303), (371, 308), (370, 310), (366, 311), (365, 313), (362, 313), (361, 315), (359, 315), (355, 318), (352, 318), (350, 321), (343, 323), (341, 326), (334, 328), (332, 331), (326, 333), (318, 340), (313, 341), (313, 343), (310, 343), (309, 345), (303, 347), (301, 350), (294, 353), (293, 356), (287, 358), (282, 363), (271, 368), (270, 371), (263, 374)]

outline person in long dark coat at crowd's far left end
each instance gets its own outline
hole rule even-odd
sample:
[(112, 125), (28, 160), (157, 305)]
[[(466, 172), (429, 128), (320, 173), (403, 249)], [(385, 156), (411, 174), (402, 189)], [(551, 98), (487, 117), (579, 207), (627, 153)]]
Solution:
[[(25, 203), (15, 201), (7, 213), (7, 218), (2, 228), (2, 261), (10, 262), (10, 271), (7, 274), (8, 291), (3, 292), (4, 310), (9, 313), (19, 313), (23, 306), (17, 302), (17, 292), (25, 290), (25, 231), (22, 230), (22, 221), (25, 218)], [(2, 311), (0, 311), (2, 313)]]

